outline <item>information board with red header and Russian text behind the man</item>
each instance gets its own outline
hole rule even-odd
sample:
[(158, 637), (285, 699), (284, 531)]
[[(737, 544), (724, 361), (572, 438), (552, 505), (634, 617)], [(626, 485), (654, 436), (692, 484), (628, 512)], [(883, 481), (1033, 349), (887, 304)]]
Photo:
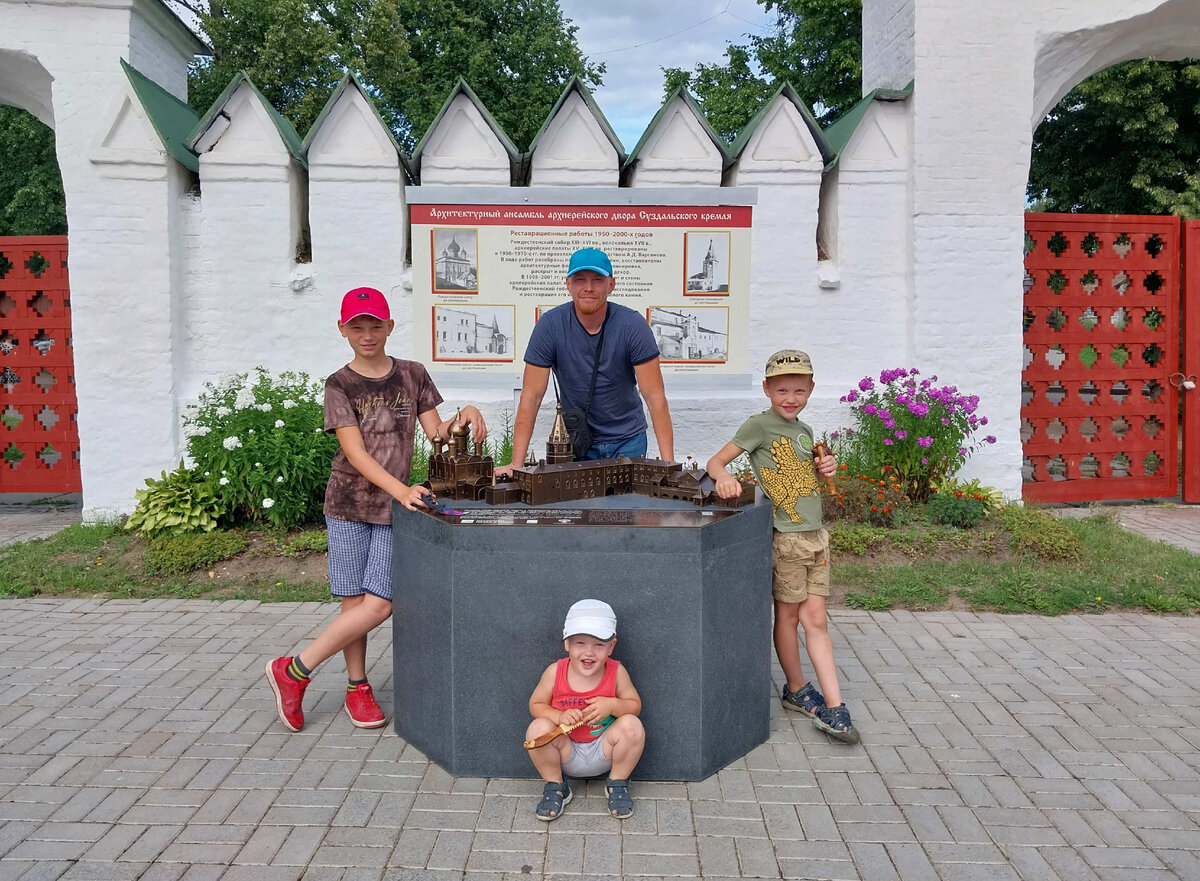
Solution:
[(748, 372), (749, 205), (414, 204), (410, 221), (414, 356), (439, 372), (520, 373), (581, 247), (608, 254), (610, 300), (646, 317), (664, 372)]

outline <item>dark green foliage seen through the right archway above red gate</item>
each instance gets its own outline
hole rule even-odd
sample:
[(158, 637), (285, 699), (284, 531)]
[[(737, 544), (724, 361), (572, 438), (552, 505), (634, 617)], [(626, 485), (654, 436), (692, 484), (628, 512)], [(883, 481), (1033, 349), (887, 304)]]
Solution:
[(1043, 211), (1200, 217), (1200, 62), (1141, 59), (1072, 89), (1033, 136)]

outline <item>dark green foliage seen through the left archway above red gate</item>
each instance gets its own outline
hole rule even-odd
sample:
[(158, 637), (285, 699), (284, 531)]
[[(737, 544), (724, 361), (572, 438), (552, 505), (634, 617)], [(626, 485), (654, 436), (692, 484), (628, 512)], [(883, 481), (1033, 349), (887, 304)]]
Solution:
[(67, 212), (54, 132), (0, 106), (0, 235), (62, 235)]

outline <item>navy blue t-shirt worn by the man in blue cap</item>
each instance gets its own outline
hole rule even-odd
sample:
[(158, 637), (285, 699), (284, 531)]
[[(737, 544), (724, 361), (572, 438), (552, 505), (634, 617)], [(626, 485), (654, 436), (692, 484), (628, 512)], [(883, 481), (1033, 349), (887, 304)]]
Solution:
[[(659, 356), (654, 331), (640, 312), (610, 301), (605, 324), (596, 391), (588, 410), (593, 443), (617, 443), (646, 431), (634, 367)], [(538, 319), (524, 360), (554, 371), (563, 407), (582, 408), (599, 340), (600, 334), (592, 335), (580, 324), (575, 304), (564, 302)]]

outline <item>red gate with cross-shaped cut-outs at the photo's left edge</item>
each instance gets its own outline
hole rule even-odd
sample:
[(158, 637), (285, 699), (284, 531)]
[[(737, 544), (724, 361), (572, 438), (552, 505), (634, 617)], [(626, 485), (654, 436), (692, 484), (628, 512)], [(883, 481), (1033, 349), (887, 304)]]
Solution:
[(0, 492), (79, 492), (65, 235), (0, 238)]

